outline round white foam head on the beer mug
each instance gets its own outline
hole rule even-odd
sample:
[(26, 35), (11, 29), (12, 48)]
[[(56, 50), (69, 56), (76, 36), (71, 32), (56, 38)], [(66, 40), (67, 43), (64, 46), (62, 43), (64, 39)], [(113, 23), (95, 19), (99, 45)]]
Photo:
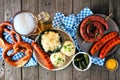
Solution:
[(36, 24), (34, 16), (29, 12), (22, 12), (14, 17), (14, 29), (22, 35), (31, 33), (36, 27)]

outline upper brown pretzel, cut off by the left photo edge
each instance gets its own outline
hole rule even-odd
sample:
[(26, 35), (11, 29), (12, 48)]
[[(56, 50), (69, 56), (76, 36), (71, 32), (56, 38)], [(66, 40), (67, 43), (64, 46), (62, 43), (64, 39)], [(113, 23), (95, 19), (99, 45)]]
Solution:
[(10, 22), (3, 22), (0, 24), (0, 46), (2, 48), (5, 48), (6, 46), (10, 45), (10, 43), (7, 42), (3, 37), (4, 32), (7, 32), (8, 34), (11, 35), (13, 44), (21, 41), (21, 36), (17, 34), (14, 30), (8, 29), (7, 26), (12, 28)]

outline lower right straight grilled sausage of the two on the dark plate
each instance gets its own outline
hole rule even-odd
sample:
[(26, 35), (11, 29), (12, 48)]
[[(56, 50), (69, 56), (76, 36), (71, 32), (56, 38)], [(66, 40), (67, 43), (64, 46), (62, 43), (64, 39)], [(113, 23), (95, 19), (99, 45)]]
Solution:
[(116, 45), (120, 44), (120, 36), (110, 40), (101, 50), (99, 58), (104, 58), (109, 51), (114, 48)]

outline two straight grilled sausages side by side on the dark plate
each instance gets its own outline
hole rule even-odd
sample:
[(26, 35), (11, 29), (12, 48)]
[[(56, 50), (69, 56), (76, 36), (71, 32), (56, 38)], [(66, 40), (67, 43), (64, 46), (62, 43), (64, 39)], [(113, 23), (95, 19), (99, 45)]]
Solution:
[[(110, 32), (97, 41), (91, 48), (90, 53), (94, 55), (101, 49), (99, 57), (104, 58), (109, 51), (120, 44), (120, 36), (118, 32)], [(102, 48), (103, 47), (103, 48)]]

